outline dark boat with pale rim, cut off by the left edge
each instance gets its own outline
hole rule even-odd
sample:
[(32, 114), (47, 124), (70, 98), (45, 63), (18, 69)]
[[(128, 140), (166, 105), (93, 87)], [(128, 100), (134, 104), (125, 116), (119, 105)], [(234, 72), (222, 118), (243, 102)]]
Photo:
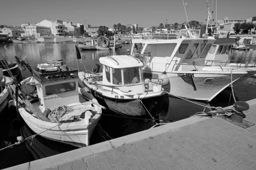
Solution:
[(0, 68), (3, 69), (4, 76), (12, 77), (7, 71), (7, 69), (9, 69), (12, 75), (16, 76), (17, 80), (19, 81), (23, 80), (23, 77), (21, 75), (20, 68), (18, 67), (17, 62), (9, 62), (6, 56), (3, 56), (3, 58), (0, 58)]

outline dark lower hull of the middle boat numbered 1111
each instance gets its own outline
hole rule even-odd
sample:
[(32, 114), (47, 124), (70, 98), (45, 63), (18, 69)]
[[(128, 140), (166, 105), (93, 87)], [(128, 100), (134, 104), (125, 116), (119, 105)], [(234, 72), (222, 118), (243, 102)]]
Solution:
[[(129, 117), (151, 118), (161, 113), (163, 104), (163, 95), (154, 97), (144, 97), (138, 99), (112, 99), (102, 96), (96, 91), (90, 90), (91, 94), (98, 100), (100, 105), (105, 106), (110, 111), (119, 115)], [(149, 112), (149, 113), (148, 113)]]

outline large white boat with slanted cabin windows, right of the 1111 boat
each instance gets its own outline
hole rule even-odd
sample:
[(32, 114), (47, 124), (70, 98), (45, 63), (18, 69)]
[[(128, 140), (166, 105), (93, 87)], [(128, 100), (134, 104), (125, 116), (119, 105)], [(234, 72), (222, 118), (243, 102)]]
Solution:
[(144, 78), (166, 79), (163, 88), (169, 94), (211, 101), (231, 82), (250, 77), (247, 70), (231, 72), (230, 67), (205, 65), (205, 57), (214, 42), (212, 38), (176, 35), (136, 37), (132, 39), (131, 55), (143, 61)]

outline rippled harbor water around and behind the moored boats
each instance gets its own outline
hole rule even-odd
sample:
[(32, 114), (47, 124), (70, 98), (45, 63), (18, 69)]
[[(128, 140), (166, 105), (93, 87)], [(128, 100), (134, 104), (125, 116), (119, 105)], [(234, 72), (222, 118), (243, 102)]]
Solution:
[[(63, 59), (69, 67), (77, 68), (76, 49), (75, 44), (73, 43), (8, 44), (8, 48), (4, 47), (4, 45), (6, 44), (0, 44), (0, 53), (7, 56), (10, 62), (15, 61), (15, 55), (21, 56), (25, 54), (28, 58), (31, 68), (37, 67), (38, 63), (51, 63), (58, 59)], [(127, 49), (130, 48), (130, 44), (122, 44), (122, 48), (115, 50), (116, 55), (126, 54)], [(81, 59), (78, 61), (79, 71), (85, 71), (85, 69), (92, 70), (93, 65), (99, 63), (100, 57), (105, 57), (108, 55), (110, 55), (110, 51), (81, 51)], [(250, 57), (252, 58), (251, 63), (256, 62), (256, 50), (231, 50), (230, 56), (231, 59), (244, 59), (245, 57)], [(22, 74), (23, 77), (28, 77), (30, 75), (29, 71), (27, 70), (23, 71)], [(247, 101), (256, 98), (255, 89), (256, 80), (254, 78), (247, 79), (245, 82), (234, 88), (236, 100)], [(227, 88), (209, 103), (189, 102), (183, 99), (166, 97), (164, 100), (163, 113), (160, 115), (160, 117), (163, 119), (170, 119), (171, 121), (178, 121), (180, 119), (185, 119), (195, 113), (202, 112), (205, 108), (204, 105), (226, 107), (234, 103), (234, 99), (231, 94), (231, 89)], [(209, 111), (209, 109), (205, 111)], [(35, 134), (23, 121), (21, 121), (20, 125), (18, 126), (11, 125), (12, 117), (12, 112), (7, 108), (5, 112), (1, 114), (0, 148), (6, 147), (10, 143), (13, 144), (16, 142), (15, 139), (17, 136), (23, 136), (23, 138), (26, 138)], [(108, 119), (116, 122), (109, 123)], [(112, 138), (124, 136), (128, 133), (119, 132), (116, 130), (121, 126), (125, 126), (123, 122), (118, 122), (116, 118), (110, 118), (110, 116), (102, 116), (99, 123), (101, 125), (100, 129), (104, 130)], [(144, 125), (150, 126), (150, 124)], [(99, 130), (94, 130), (93, 135), (91, 136), (90, 144), (101, 142), (98, 132)], [(0, 169), (12, 167), (17, 164), (23, 164), (25, 162), (33, 161), (36, 159), (42, 159), (74, 149), (77, 149), (77, 147), (59, 142), (53, 142), (41, 136), (36, 136), (32, 141), (26, 141), (22, 144), (0, 151)]]

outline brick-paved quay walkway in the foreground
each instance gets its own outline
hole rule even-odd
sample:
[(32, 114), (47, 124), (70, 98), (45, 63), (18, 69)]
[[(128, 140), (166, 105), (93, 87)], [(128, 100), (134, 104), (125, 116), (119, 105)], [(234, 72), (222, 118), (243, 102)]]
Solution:
[[(256, 123), (256, 105), (252, 105), (248, 112), (246, 119)], [(195, 118), (189, 119), (191, 122)], [(175, 130), (166, 130), (171, 125), (157, 127), (162, 128), (163, 133), (158, 131), (155, 135), (152, 131), (152, 136), (149, 134), (146, 138), (140, 136), (150, 131), (137, 133), (140, 134), (137, 135), (139, 141), (131, 139), (136, 137), (135, 133), (129, 139), (122, 137), (107, 141), (112, 147), (102, 143), (95, 145), (98, 148), (92, 152), (86, 147), (87, 151), (74, 153), (76, 157), (81, 155), (79, 159), (65, 158), (66, 163), (58, 163), (49, 170), (256, 170), (256, 125), (243, 129), (218, 117), (201, 119), (190, 125), (180, 125), (182, 127)], [(115, 140), (120, 143), (124, 138), (136, 142), (115, 147)], [(63, 159), (60, 157), (58, 159)], [(31, 163), (38, 169), (43, 164)]]

